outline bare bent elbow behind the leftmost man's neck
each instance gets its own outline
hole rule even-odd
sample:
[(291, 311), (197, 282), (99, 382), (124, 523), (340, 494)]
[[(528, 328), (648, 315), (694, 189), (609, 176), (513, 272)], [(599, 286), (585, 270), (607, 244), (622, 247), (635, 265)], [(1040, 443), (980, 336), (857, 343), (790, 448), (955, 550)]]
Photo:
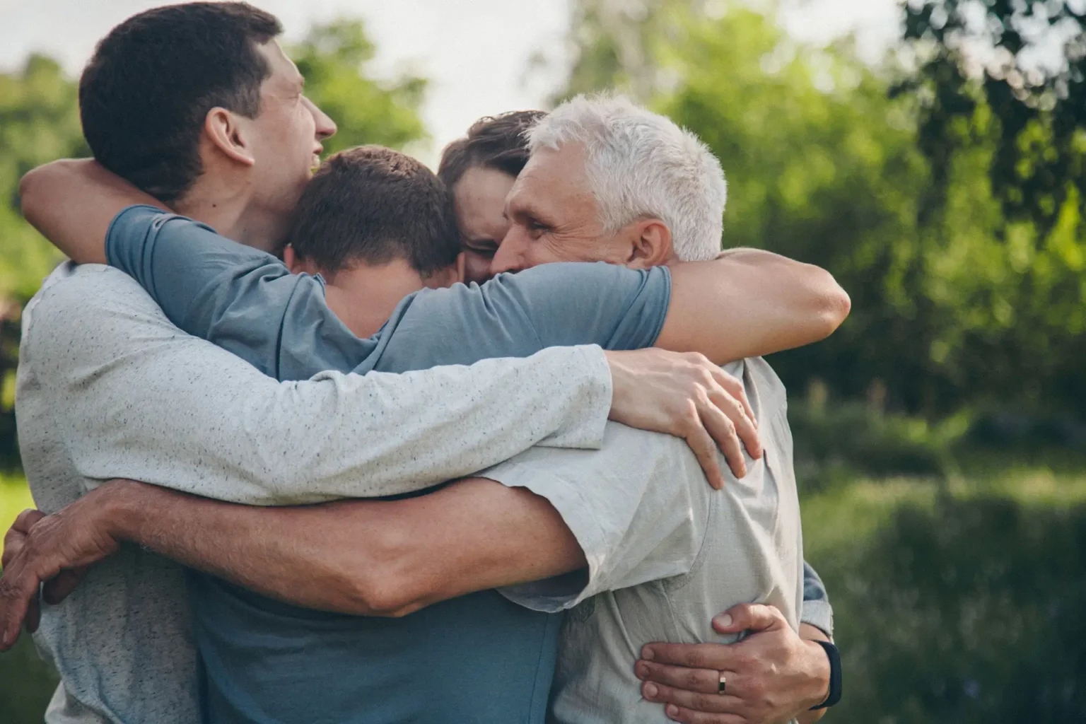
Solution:
[(165, 208), (88, 158), (64, 158), (35, 168), (23, 177), (20, 199), (26, 220), (79, 264), (105, 263), (105, 232), (126, 206)]

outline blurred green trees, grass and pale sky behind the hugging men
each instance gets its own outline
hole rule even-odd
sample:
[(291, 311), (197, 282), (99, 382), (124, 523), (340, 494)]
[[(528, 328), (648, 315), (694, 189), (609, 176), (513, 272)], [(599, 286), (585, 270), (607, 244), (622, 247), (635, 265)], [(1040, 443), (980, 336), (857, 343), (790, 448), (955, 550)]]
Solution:
[[(22, 305), (59, 261), (17, 181), (83, 155), (75, 82), (141, 0), (0, 0), (0, 529), (31, 506)], [(724, 245), (830, 269), (853, 314), (770, 359), (809, 561), (837, 617), (828, 721), (1086, 722), (1086, 0), (278, 0), (329, 151), (435, 165), (477, 117), (618, 88), (697, 132)], [(55, 678), (0, 657), (0, 721)]]

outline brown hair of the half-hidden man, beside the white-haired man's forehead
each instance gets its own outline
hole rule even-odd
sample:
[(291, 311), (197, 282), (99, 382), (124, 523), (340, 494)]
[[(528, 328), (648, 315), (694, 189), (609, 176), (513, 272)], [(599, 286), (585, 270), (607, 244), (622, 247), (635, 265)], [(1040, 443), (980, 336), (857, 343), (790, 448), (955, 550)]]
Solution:
[(438, 176), (450, 189), (469, 168), (494, 168), (516, 178), (528, 163), (525, 134), (545, 116), (543, 111), (509, 111), (485, 116), (441, 152)]

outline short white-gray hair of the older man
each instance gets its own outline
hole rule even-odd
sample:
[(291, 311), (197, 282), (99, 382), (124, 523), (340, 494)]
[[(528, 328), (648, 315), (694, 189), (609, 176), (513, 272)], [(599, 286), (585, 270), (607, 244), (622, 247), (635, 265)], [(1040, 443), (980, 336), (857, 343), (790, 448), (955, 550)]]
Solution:
[(671, 230), (684, 262), (720, 253), (728, 185), (720, 162), (670, 118), (624, 97), (578, 96), (527, 134), (531, 153), (577, 142), (584, 147), (589, 186), (606, 233), (642, 218)]

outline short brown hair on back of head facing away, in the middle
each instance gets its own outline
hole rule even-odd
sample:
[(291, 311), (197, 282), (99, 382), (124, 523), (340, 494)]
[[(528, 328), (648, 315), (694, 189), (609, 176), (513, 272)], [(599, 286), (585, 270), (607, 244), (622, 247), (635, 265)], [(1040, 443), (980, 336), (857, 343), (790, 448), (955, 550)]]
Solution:
[(445, 185), (415, 158), (380, 145), (340, 151), (317, 169), (288, 239), (326, 276), (356, 262), (406, 258), (426, 278), (460, 251)]

